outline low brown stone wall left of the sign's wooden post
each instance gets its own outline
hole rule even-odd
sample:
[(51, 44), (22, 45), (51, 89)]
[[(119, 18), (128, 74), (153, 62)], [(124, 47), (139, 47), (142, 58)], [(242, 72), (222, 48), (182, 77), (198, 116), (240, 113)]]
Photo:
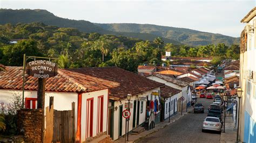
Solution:
[(18, 133), (25, 142), (41, 142), (42, 109), (22, 109), (18, 111)]

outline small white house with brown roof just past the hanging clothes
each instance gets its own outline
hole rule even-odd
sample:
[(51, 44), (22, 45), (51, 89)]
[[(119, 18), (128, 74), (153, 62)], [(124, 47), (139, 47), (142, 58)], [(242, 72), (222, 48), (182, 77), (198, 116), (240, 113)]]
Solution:
[(164, 119), (169, 118), (172, 116), (174, 113), (178, 111), (178, 94), (181, 92), (179, 89), (175, 89), (172, 87), (169, 87), (165, 85), (164, 87), (160, 88), (161, 90), (161, 98), (164, 101)]

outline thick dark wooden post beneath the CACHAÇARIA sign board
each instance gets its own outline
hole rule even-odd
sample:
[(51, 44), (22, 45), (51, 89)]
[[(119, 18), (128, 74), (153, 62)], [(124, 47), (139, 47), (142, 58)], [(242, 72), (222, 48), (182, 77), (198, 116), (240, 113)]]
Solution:
[(37, 109), (42, 109), (41, 140), (44, 142), (44, 96), (45, 96), (45, 78), (38, 78), (37, 90)]

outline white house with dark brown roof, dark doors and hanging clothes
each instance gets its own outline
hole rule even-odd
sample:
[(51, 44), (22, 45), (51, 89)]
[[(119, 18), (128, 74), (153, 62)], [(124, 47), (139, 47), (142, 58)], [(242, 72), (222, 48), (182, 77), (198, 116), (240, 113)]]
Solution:
[[(125, 118), (122, 112), (128, 108), (127, 95), (130, 99), (129, 131), (142, 125), (152, 112), (154, 123), (160, 122), (160, 87), (163, 83), (149, 80), (138, 74), (118, 67), (69, 69), (84, 75), (118, 82), (118, 87), (109, 90), (109, 122), (107, 134), (117, 140), (125, 134)], [(142, 100), (142, 98), (144, 98)]]

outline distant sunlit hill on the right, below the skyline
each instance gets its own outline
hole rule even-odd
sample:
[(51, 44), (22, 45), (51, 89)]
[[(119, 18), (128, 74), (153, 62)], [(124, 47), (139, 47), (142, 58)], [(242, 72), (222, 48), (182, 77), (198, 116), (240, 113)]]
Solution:
[(226, 45), (239, 44), (239, 38), (233, 38), (222, 34), (214, 34), (208, 32), (201, 32), (187, 28), (177, 28), (169, 26), (158, 26), (152, 24), (96, 24), (105, 30), (115, 32), (136, 32), (149, 33), (179, 41), (186, 45), (208, 45), (224, 43)]

